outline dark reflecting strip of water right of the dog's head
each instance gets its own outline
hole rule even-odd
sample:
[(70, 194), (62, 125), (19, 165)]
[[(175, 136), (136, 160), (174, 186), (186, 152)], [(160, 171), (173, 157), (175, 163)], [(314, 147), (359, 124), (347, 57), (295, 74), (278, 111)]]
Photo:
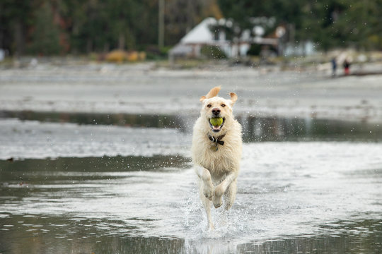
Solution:
[(379, 123), (255, 116), (239, 116), (238, 121), (243, 126), (243, 140), (246, 142), (382, 140), (382, 125)]

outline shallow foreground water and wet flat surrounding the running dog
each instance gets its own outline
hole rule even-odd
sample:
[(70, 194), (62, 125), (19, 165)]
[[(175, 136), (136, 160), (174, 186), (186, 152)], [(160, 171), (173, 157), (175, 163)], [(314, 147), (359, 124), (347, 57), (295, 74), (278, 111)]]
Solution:
[(0, 125), (0, 253), (382, 251), (374, 136), (245, 143), (235, 205), (207, 231), (187, 131)]

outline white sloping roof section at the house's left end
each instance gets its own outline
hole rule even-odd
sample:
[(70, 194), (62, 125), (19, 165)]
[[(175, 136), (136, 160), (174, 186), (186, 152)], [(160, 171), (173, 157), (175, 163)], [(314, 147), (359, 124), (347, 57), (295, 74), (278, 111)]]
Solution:
[(182, 44), (195, 43), (212, 43), (214, 41), (214, 33), (209, 30), (210, 25), (216, 24), (216, 19), (206, 18), (199, 25), (192, 28), (181, 40)]

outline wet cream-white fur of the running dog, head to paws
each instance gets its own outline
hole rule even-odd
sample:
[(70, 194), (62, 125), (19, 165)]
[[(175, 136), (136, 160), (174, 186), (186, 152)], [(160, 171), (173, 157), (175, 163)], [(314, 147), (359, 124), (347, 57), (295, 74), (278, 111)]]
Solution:
[[(236, 179), (242, 151), (241, 125), (232, 114), (237, 96), (231, 93), (231, 99), (217, 97), (219, 90), (220, 87), (214, 87), (207, 96), (200, 99), (203, 106), (192, 137), (192, 162), (199, 176), (199, 196), (207, 212), (208, 226), (211, 229), (214, 229), (210, 212), (211, 202), (214, 207), (220, 207), (221, 196), (224, 195), (225, 209), (228, 210), (236, 198)], [(225, 107), (222, 107), (223, 104)], [(213, 117), (212, 109), (220, 109), (221, 117), (225, 118), (224, 126), (217, 133), (209, 126), (209, 119)], [(214, 137), (225, 135), (221, 139), (224, 145), (218, 145), (217, 151), (211, 150), (214, 143), (209, 140), (208, 134)]]

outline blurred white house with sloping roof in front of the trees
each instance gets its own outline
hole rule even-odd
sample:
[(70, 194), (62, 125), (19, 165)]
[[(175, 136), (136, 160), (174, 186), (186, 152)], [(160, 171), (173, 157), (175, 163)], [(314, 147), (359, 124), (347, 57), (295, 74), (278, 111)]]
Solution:
[[(272, 18), (267, 19), (265, 17), (262, 17), (262, 19), (265, 21), (273, 20)], [(262, 23), (265, 23), (265, 21)], [(274, 25), (274, 22), (271, 25)], [(224, 30), (211, 30), (212, 27), (218, 28), (219, 26), (228, 29), (232, 28), (234, 31), (238, 30), (240, 37), (231, 41), (226, 39)], [(295, 44), (283, 43), (285, 39), (284, 35), (288, 32), (287, 28), (283, 25), (277, 26), (274, 32), (268, 37), (262, 37), (264, 32), (264, 28), (262, 28), (261, 24), (255, 25), (254, 23), (253, 31), (249, 29), (240, 31), (240, 28), (234, 25), (232, 20), (206, 18), (196, 25), (195, 28), (192, 28), (173, 49), (170, 49), (169, 58), (171, 60), (176, 57), (199, 57), (201, 55), (201, 49), (205, 45), (220, 47), (228, 57), (246, 56), (251, 44), (270, 45), (277, 49), (278, 54), (285, 56), (313, 54), (315, 52), (314, 45), (311, 42), (299, 44), (297, 45), (298, 47)]]

